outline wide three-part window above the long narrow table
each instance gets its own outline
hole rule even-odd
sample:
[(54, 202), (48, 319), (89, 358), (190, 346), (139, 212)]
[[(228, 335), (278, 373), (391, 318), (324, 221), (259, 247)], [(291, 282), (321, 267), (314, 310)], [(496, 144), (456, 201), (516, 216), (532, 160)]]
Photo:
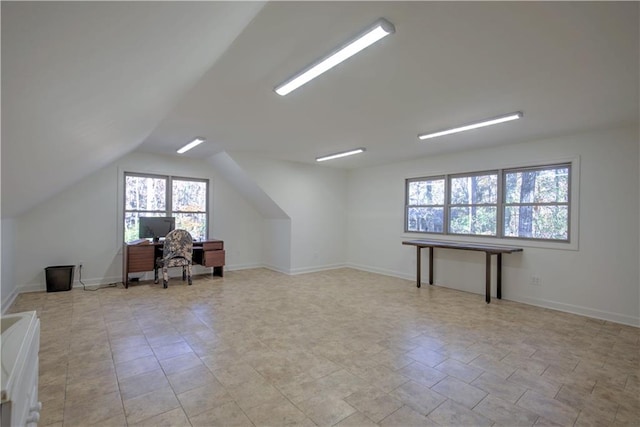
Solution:
[(570, 176), (564, 163), (407, 179), (405, 231), (569, 242)]

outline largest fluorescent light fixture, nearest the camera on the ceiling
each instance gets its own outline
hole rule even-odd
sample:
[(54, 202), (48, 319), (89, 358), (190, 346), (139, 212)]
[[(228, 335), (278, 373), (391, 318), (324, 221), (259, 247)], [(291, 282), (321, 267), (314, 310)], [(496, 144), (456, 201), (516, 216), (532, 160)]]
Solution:
[(354, 40), (347, 42), (319, 62), (309, 65), (305, 70), (276, 86), (274, 90), (278, 95), (285, 96), (395, 31), (396, 29), (391, 22), (380, 18), (373, 26), (366, 29)]

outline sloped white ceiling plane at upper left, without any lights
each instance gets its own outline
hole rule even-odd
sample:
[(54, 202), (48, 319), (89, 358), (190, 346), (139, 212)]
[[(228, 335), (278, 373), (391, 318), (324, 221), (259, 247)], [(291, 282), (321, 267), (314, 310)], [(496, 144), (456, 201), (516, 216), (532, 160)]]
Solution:
[(2, 217), (134, 150), (262, 2), (2, 2)]

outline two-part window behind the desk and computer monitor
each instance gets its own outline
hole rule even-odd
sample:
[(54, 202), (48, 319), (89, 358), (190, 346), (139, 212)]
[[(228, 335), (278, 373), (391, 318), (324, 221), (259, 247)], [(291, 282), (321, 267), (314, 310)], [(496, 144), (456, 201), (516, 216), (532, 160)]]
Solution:
[(165, 175), (125, 173), (124, 241), (138, 238), (141, 216), (172, 216), (176, 228), (196, 240), (207, 238), (209, 181)]

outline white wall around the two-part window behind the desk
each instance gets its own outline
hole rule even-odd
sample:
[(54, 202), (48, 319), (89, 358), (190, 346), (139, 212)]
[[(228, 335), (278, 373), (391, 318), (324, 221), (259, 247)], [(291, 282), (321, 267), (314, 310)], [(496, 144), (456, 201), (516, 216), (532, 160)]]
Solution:
[[(131, 153), (15, 220), (14, 279), (20, 291), (45, 289), (47, 266), (80, 262), (87, 285), (121, 281), (125, 171), (208, 178), (209, 237), (225, 241), (225, 268), (261, 265), (262, 217), (211, 165), (190, 158)], [(196, 266), (196, 273), (206, 271)], [(76, 270), (76, 286), (78, 279)]]

